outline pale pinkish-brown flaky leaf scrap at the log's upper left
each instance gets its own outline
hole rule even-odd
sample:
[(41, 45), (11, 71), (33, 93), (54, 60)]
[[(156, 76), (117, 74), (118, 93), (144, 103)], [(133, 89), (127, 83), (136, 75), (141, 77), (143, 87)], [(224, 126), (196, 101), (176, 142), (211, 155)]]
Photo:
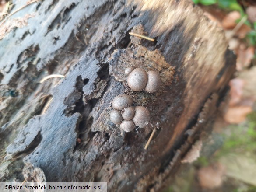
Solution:
[(4, 23), (0, 28), (0, 39), (3, 39), (7, 33), (10, 33), (14, 28), (23, 28), (28, 25), (28, 19), (35, 17), (35, 13), (26, 14), (23, 18), (15, 18)]

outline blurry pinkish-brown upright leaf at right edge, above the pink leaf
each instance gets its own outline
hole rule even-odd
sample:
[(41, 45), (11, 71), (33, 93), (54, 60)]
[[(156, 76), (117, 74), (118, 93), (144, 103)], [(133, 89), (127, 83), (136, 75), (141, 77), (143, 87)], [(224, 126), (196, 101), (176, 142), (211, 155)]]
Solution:
[(239, 46), (236, 59), (236, 69), (238, 71), (241, 71), (250, 65), (254, 57), (254, 51), (255, 49), (253, 46), (248, 48), (245, 48), (243, 44)]

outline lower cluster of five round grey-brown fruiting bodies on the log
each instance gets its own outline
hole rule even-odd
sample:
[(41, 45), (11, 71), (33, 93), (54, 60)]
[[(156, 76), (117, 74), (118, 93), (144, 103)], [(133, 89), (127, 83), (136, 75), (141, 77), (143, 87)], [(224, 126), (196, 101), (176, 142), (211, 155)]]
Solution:
[(133, 99), (126, 94), (116, 96), (112, 101), (110, 120), (120, 129), (130, 132), (136, 126), (143, 128), (149, 122), (150, 112), (143, 106), (133, 107)]

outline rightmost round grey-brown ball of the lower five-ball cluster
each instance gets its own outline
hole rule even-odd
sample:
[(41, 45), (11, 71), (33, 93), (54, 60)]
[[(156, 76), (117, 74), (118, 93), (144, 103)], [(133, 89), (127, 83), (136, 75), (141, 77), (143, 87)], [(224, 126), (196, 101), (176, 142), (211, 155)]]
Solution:
[(140, 128), (145, 127), (150, 119), (150, 112), (147, 108), (142, 106), (135, 107), (135, 115), (133, 117), (133, 122), (135, 126), (139, 126)]

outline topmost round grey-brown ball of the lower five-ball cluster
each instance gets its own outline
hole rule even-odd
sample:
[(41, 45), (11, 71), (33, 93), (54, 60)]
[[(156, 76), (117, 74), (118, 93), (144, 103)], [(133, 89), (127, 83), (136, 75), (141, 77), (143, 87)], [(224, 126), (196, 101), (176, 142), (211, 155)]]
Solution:
[(133, 99), (126, 94), (119, 94), (112, 101), (112, 108), (116, 110), (123, 110), (131, 105), (133, 105)]

